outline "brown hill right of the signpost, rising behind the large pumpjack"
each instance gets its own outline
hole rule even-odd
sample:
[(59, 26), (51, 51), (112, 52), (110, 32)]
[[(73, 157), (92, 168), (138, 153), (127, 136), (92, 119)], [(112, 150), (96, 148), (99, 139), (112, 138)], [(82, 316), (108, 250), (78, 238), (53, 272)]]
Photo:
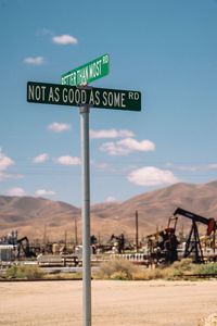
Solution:
[[(176, 208), (180, 206), (207, 218), (217, 220), (217, 181), (205, 185), (176, 184), (142, 193), (119, 204), (92, 206), (92, 215), (101, 217), (101, 230), (125, 233), (135, 237), (135, 215), (139, 213), (140, 238), (165, 228)], [(104, 223), (102, 222), (104, 221)], [(112, 224), (107, 224), (113, 221)], [(190, 221), (179, 217), (178, 229), (189, 231)]]

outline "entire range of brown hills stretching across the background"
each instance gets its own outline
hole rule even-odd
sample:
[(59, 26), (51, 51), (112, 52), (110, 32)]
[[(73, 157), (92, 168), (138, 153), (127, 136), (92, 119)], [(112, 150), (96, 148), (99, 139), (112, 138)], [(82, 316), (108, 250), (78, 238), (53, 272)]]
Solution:
[[(217, 180), (204, 185), (176, 184), (136, 196), (124, 202), (91, 206), (91, 234), (108, 239), (124, 233), (135, 238), (135, 215), (139, 215), (140, 239), (167, 226), (176, 208), (217, 220)], [(0, 196), (0, 238), (18, 230), (18, 238), (51, 241), (81, 238), (80, 209), (71, 204), (31, 197)], [(188, 233), (189, 221), (179, 218), (179, 228)]]

